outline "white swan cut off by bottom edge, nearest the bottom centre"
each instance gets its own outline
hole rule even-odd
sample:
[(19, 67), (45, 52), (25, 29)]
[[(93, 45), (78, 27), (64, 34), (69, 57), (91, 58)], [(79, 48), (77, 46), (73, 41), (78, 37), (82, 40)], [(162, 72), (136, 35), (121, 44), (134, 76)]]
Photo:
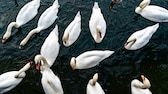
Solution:
[(95, 73), (93, 78), (87, 84), (86, 94), (105, 94), (100, 84), (97, 82), (98, 73)]

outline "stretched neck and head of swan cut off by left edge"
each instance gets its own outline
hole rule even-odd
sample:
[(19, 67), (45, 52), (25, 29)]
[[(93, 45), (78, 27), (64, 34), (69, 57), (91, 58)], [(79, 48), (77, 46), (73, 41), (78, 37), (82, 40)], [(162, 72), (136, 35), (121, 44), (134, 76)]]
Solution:
[(15, 78), (23, 78), (22, 75), (20, 75), (21, 73), (27, 71), (32, 65), (32, 62), (27, 63), (23, 68), (21, 68), (18, 73), (15, 75)]

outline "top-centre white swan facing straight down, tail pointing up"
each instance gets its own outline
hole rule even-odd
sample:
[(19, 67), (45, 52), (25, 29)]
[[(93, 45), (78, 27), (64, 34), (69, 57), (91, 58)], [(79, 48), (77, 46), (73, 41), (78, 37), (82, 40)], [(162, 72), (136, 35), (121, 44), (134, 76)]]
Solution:
[(96, 43), (100, 43), (106, 33), (106, 21), (101, 13), (98, 2), (94, 3), (89, 20), (89, 29)]

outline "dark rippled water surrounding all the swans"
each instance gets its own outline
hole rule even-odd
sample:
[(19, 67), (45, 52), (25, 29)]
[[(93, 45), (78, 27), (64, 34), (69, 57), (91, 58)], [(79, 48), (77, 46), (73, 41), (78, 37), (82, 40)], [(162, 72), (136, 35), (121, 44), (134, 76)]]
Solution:
[[(0, 37), (2, 38), (7, 25), (15, 21), (19, 10), (31, 0), (1, 0), (0, 1)], [(158, 31), (150, 42), (136, 51), (127, 51), (123, 44), (136, 30), (140, 30), (155, 23), (142, 17), (134, 19), (135, 7), (141, 0), (123, 0), (122, 4), (109, 10), (110, 0), (97, 0), (107, 22), (107, 33), (100, 44), (94, 47), (93, 38), (89, 32), (88, 22), (93, 3), (96, 0), (59, 0), (61, 5), (59, 19), (48, 29), (34, 35), (24, 49), (19, 44), (27, 33), (36, 27), (40, 14), (49, 7), (54, 0), (41, 0), (38, 15), (21, 28), (13, 28), (12, 36), (6, 44), (0, 43), (0, 74), (19, 70), (27, 62), (33, 60), (40, 53), (40, 48), (55, 24), (59, 26), (60, 53), (51, 67), (61, 79), (65, 94), (86, 94), (88, 80), (95, 72), (100, 75), (99, 83), (106, 94), (131, 94), (130, 82), (140, 79), (144, 74), (151, 81), (153, 94), (168, 93), (168, 23), (161, 23)], [(152, 0), (156, 4), (168, 9), (168, 0)], [(67, 25), (73, 20), (77, 11), (82, 15), (82, 32), (79, 39), (70, 47), (62, 45), (62, 35)], [(96, 66), (87, 70), (72, 71), (69, 65), (72, 56), (93, 49), (114, 50), (115, 54)], [(7, 94), (44, 94), (41, 86), (41, 74), (34, 66), (27, 72), (27, 76), (13, 90)]]

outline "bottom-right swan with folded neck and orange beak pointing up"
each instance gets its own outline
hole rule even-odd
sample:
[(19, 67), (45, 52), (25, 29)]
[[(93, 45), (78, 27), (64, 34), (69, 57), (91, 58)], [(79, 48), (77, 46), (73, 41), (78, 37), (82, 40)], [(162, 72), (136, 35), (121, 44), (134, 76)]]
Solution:
[(131, 81), (132, 94), (152, 94), (149, 90), (151, 86), (150, 81), (144, 75), (141, 75), (141, 78), (143, 83), (137, 79)]

